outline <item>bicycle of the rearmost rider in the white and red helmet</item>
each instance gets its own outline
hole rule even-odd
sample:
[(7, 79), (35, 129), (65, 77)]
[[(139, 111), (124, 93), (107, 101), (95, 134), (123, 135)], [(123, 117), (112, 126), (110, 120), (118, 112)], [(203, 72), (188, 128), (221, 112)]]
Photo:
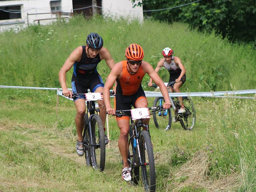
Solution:
[[(167, 84), (169, 86), (169, 84)], [(157, 88), (156, 84), (153, 84), (152, 87)], [(170, 90), (167, 89), (169, 93)], [(180, 102), (177, 97), (170, 97), (170, 101), (172, 104), (172, 109), (174, 113), (175, 121), (179, 122), (183, 129), (185, 130), (192, 130), (196, 124), (196, 110), (194, 103), (190, 97), (182, 97), (183, 105), (186, 110), (185, 113), (178, 113), (180, 109)], [(154, 100), (153, 106), (163, 106), (164, 98), (163, 97), (156, 97)], [(164, 130), (168, 130), (171, 128), (172, 125), (172, 112), (171, 109), (166, 109), (165, 111), (160, 111), (158, 114), (153, 114), (153, 119), (156, 127), (160, 129), (164, 127)]]

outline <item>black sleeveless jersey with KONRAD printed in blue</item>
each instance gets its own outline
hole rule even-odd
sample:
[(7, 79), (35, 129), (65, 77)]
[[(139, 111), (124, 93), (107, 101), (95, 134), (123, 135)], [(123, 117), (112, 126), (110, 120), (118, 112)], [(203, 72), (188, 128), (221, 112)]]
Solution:
[(74, 71), (72, 77), (88, 78), (97, 74), (97, 65), (100, 62), (100, 53), (95, 58), (88, 58), (85, 52), (86, 46), (83, 47), (81, 60), (74, 63)]

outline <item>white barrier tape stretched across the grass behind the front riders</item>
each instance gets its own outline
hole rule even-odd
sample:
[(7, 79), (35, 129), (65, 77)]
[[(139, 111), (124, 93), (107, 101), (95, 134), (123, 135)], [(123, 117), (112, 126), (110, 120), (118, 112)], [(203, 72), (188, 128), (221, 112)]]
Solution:
[[(14, 88), (14, 89), (42, 89), (42, 90), (58, 90), (58, 88), (49, 88), (49, 87), (21, 87), (21, 86), (5, 86), (0, 85), (0, 88)], [(62, 90), (59, 88), (59, 91)], [(72, 89), (68, 89), (71, 90)], [(190, 93), (169, 93), (171, 97), (217, 97), (218, 95), (234, 95), (234, 94), (248, 94), (248, 93), (256, 93), (256, 89), (248, 89), (248, 90), (237, 90), (237, 91), (216, 91), (216, 92), (190, 92)], [(58, 94), (58, 93), (57, 93)], [(161, 92), (152, 92), (145, 91), (146, 97), (162, 97)], [(62, 95), (62, 92), (61, 94)], [(234, 96), (235, 97), (235, 96)], [(242, 98), (242, 97), (238, 97)], [(254, 97), (248, 97), (248, 99), (253, 99)]]

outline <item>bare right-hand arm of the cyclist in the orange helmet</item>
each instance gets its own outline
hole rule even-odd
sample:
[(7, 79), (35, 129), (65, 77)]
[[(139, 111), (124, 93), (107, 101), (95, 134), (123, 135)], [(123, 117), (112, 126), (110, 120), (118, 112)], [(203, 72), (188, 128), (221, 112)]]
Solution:
[(156, 73), (156, 71), (153, 69), (153, 67), (149, 63), (142, 61), (141, 67), (142, 67), (143, 71), (145, 73), (148, 73), (150, 78), (152, 78), (153, 81), (159, 86), (159, 88), (164, 96), (164, 100), (165, 100), (163, 107), (165, 109), (170, 108), (171, 102), (170, 102), (169, 94), (168, 94), (167, 88), (164, 85), (164, 82), (162, 81), (162, 79), (159, 77), (159, 75)]

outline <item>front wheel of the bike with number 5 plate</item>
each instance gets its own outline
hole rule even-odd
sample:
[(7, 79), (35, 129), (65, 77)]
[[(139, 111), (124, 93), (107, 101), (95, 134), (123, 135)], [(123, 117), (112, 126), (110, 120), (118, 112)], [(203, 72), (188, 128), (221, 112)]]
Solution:
[(147, 131), (139, 134), (140, 156), (142, 165), (141, 180), (145, 191), (156, 191), (155, 160), (150, 136)]

